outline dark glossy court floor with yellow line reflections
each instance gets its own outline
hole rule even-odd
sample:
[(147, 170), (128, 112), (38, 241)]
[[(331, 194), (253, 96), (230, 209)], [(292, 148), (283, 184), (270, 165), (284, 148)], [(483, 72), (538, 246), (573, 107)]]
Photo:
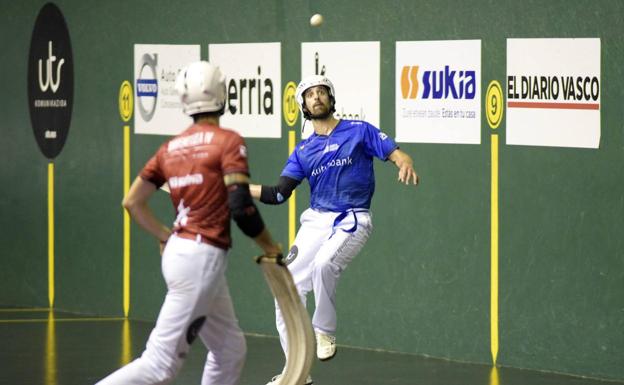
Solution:
[[(0, 385), (94, 384), (143, 350), (153, 323), (86, 318), (48, 309), (0, 309)], [(283, 365), (275, 337), (247, 335), (240, 385), (264, 385)], [(174, 384), (199, 384), (206, 350), (196, 344)], [(416, 355), (342, 347), (316, 362), (316, 385), (619, 385)]]

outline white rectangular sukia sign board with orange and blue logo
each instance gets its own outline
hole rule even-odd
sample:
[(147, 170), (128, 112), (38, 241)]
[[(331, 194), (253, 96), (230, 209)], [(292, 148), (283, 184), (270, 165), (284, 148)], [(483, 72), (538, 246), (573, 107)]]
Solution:
[(481, 41), (396, 42), (396, 140), (481, 143)]

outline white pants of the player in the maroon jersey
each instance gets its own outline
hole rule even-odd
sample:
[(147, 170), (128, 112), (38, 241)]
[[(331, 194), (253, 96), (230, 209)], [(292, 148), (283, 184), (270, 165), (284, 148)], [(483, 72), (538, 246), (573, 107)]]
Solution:
[(238, 383), (245, 337), (225, 279), (225, 250), (172, 235), (162, 256), (167, 295), (140, 358), (98, 385), (170, 383), (199, 336), (208, 349), (202, 385)]

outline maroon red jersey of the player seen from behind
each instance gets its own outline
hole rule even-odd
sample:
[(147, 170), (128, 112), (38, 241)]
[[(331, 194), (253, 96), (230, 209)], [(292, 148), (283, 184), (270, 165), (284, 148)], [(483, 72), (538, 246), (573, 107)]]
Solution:
[(227, 249), (231, 246), (230, 210), (223, 176), (249, 175), (247, 148), (236, 132), (207, 123), (194, 124), (165, 142), (140, 172), (157, 187), (165, 182), (176, 209), (173, 231)]

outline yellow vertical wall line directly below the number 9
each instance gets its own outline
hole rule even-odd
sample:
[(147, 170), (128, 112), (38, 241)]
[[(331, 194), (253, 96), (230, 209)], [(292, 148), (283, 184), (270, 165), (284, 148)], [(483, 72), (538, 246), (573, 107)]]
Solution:
[(491, 250), (490, 250), (490, 350), (492, 364), (498, 356), (498, 135), (492, 134)]

